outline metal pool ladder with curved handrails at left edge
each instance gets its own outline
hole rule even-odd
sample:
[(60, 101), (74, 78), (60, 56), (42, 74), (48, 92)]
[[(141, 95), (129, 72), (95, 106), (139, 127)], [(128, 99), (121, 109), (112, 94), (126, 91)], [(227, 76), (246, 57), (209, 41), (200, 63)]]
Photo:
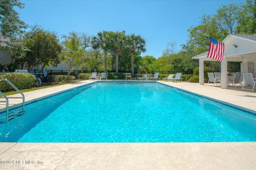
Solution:
[[(0, 101), (1, 103), (6, 103), (6, 122), (9, 122), (10, 120), (12, 120), (13, 118), (15, 117), (18, 117), (20, 115), (23, 115), (25, 114), (25, 96), (24, 94), (16, 87), (14, 86), (13, 83), (11, 83), (9, 80), (7, 79), (0, 79), (0, 81), (5, 81), (7, 82), (8, 84), (10, 84), (10, 86), (15, 89), (16, 91), (19, 92), (19, 94), (21, 94), (21, 97), (7, 97), (3, 94), (2, 91), (0, 91), (0, 95), (2, 95), (3, 97), (1, 98), (4, 98), (5, 101)], [(14, 111), (14, 112), (10, 112), (9, 113), (9, 98), (16, 98), (16, 99), (22, 99), (22, 108), (17, 110), (17, 111)]]

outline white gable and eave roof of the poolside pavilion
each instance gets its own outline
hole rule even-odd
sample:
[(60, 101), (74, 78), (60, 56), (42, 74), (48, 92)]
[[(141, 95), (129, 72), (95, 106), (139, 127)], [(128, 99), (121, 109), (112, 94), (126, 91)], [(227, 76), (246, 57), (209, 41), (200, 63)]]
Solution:
[[(225, 43), (224, 57), (237, 57), (256, 53), (256, 34), (231, 34), (223, 40), (223, 43)], [(198, 54), (192, 58), (216, 61), (212, 58), (207, 58), (207, 53)]]

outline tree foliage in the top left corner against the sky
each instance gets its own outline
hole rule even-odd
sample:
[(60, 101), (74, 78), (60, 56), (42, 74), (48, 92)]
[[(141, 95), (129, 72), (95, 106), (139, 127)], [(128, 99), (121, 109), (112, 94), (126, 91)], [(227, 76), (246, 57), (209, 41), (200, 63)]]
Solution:
[(5, 37), (16, 37), (27, 27), (19, 18), (14, 7), (23, 8), (19, 0), (1, 0), (0, 3), (0, 32)]

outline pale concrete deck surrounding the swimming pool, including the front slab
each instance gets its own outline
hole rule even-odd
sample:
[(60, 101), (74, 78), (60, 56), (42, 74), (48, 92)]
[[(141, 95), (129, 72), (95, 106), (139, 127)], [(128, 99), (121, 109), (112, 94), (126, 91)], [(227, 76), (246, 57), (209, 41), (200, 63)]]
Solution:
[[(94, 81), (65, 84), (24, 94), (26, 101), (31, 102), (91, 82)], [(161, 83), (256, 111), (255, 92), (200, 86), (198, 83), (188, 82)], [(17, 99), (12, 101), (15, 106), (20, 103)], [(0, 169), (255, 169), (255, 158), (256, 142), (0, 142)], [(7, 164), (5, 161), (10, 162)]]

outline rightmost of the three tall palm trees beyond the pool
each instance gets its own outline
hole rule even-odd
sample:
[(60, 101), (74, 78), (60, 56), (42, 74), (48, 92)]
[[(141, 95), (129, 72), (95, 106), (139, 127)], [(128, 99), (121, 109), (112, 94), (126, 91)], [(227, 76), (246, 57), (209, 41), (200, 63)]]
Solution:
[(136, 36), (134, 34), (127, 36), (126, 47), (130, 50), (131, 54), (131, 70), (132, 77), (134, 77), (134, 54), (136, 52), (145, 52), (146, 40), (141, 36)]

